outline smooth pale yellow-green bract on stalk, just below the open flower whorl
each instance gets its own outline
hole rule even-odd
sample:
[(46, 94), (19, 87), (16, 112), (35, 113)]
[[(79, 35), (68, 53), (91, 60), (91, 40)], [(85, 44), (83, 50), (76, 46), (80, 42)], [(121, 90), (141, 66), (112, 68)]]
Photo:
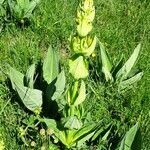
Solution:
[(76, 80), (88, 76), (88, 64), (83, 56), (75, 56), (69, 60), (69, 72)]

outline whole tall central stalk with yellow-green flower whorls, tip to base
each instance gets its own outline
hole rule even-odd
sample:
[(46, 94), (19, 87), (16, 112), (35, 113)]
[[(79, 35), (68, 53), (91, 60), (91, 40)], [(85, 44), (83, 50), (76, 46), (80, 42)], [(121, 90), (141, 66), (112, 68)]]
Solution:
[(81, 0), (77, 8), (76, 33), (70, 40), (72, 56), (69, 58), (68, 65), (69, 73), (72, 75), (73, 80), (66, 93), (67, 104), (64, 108), (64, 118), (62, 119), (66, 130), (65, 145), (67, 148), (77, 144), (79, 139), (74, 139), (74, 135), (78, 130), (86, 126), (82, 120), (84, 115), (83, 102), (86, 99), (84, 79), (89, 74), (88, 58), (96, 46), (96, 36), (90, 34), (94, 17), (93, 0)]

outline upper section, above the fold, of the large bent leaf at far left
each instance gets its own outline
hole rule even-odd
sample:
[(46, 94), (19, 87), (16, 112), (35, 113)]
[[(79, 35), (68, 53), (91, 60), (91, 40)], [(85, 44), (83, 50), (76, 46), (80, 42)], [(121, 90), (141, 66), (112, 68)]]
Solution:
[(16, 69), (10, 67), (10, 72), (8, 75), (9, 75), (9, 78), (10, 78), (10, 81), (12, 84), (12, 88), (14, 90), (16, 90), (15, 84), (21, 85), (21, 86), (24, 85), (24, 83), (23, 83), (24, 75), (22, 73), (20, 73), (19, 71), (17, 71)]

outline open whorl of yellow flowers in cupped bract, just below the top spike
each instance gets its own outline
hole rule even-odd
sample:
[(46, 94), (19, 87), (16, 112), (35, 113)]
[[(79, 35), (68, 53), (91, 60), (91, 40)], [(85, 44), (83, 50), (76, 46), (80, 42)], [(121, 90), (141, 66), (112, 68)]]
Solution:
[(86, 36), (85, 38), (73, 37), (71, 41), (73, 52), (83, 56), (90, 56), (95, 49), (96, 39), (96, 36)]

